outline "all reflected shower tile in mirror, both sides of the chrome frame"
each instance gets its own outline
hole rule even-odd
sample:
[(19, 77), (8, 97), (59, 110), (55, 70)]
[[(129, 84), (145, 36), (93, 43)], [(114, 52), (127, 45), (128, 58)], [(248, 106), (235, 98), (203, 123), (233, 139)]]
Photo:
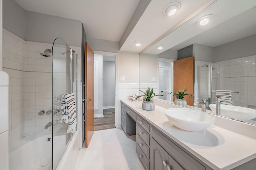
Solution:
[[(198, 65), (198, 97), (208, 99), (207, 62)], [(212, 90), (232, 90), (233, 105), (256, 107), (256, 55), (213, 63)], [(196, 85), (196, 84), (195, 84)], [(212, 92), (212, 103), (216, 93)]]

